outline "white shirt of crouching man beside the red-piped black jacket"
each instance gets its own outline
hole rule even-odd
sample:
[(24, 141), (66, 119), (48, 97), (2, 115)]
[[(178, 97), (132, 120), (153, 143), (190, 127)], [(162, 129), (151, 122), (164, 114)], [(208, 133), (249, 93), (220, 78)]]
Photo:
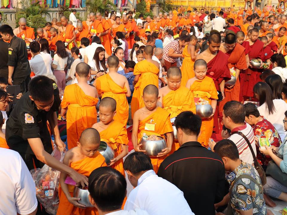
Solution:
[(138, 186), (131, 191), (124, 210), (140, 208), (152, 215), (194, 215), (183, 192), (167, 180), (158, 177), (153, 170), (146, 171)]

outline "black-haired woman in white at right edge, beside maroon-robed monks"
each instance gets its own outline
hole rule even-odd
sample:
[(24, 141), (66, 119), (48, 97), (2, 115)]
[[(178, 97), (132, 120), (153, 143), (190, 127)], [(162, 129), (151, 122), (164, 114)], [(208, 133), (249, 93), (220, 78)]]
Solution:
[(287, 68), (283, 54), (276, 53), (271, 56), (270, 60), (272, 62), (272, 71), (275, 74), (280, 75), (282, 82), (285, 82), (285, 80), (287, 79)]

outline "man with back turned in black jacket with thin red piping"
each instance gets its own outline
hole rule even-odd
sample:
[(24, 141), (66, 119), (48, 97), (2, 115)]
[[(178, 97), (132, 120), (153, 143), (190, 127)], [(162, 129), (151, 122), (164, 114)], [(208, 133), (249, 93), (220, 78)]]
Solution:
[(201, 128), (198, 115), (191, 111), (181, 112), (175, 119), (175, 127), (180, 147), (164, 159), (158, 176), (183, 191), (196, 215), (214, 215), (214, 204), (224, 196), (225, 171), (222, 159), (197, 142)]

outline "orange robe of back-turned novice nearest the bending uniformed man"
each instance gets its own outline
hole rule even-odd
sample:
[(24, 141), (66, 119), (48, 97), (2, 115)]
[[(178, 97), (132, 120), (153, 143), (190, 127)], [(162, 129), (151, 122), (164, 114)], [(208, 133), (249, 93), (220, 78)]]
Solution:
[(68, 149), (77, 146), (83, 130), (91, 128), (97, 122), (96, 105), (98, 101), (98, 98), (87, 96), (77, 84), (66, 86), (61, 107), (68, 108)]

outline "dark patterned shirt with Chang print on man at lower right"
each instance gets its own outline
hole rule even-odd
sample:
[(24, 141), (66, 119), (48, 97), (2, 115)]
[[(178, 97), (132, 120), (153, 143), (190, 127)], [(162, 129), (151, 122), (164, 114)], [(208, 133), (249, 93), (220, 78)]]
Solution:
[[(226, 180), (230, 185), (233, 185), (233, 181), (242, 174), (248, 174), (252, 178), (256, 179), (257, 183), (261, 185), (261, 179), (257, 170), (250, 164), (242, 162), (234, 171), (226, 176)], [(263, 199), (263, 193), (260, 192), (256, 183), (250, 179), (239, 179), (230, 195), (231, 207), (233, 208), (234, 215), (240, 215), (240, 211), (253, 210), (254, 215), (265, 215), (266, 206)]]

